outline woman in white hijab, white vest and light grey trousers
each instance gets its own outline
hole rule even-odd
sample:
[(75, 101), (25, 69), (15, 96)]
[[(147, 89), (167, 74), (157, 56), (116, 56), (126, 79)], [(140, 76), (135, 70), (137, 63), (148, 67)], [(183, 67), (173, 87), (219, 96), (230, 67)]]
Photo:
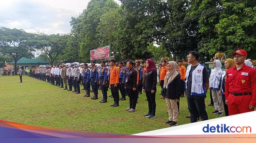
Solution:
[(219, 91), (221, 88), (221, 77), (226, 74), (224, 69), (221, 69), (221, 61), (214, 60), (213, 61), (213, 68), (210, 74), (210, 89), (211, 95), (214, 104), (214, 111), (211, 114), (217, 114), (218, 116), (223, 115), (223, 101), (222, 97), (219, 95)]

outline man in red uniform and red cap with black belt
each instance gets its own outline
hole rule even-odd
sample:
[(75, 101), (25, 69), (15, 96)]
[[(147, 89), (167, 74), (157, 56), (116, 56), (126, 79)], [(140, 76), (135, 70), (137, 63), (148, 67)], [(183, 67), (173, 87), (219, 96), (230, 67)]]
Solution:
[(256, 106), (256, 71), (245, 65), (247, 52), (243, 49), (232, 53), (235, 66), (226, 73), (225, 99), (229, 115), (254, 111)]

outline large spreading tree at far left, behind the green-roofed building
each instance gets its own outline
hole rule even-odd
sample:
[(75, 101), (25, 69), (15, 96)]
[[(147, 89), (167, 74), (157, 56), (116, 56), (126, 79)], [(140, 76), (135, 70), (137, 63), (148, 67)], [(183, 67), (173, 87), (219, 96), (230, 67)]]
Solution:
[(35, 49), (34, 34), (22, 29), (0, 27), (0, 53), (11, 56), (17, 73), (17, 61)]

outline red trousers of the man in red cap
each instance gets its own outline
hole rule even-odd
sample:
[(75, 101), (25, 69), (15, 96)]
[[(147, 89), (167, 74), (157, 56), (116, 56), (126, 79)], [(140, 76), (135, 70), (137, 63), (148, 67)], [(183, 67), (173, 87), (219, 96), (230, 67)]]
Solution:
[(244, 96), (234, 96), (232, 94), (228, 95), (228, 115), (235, 115), (245, 112), (254, 111), (254, 109), (249, 109), (249, 103), (252, 99), (251, 95)]

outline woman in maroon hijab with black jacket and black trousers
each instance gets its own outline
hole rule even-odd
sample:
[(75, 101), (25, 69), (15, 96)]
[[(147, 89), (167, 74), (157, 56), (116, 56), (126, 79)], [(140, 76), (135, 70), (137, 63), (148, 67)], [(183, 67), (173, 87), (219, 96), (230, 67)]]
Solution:
[(148, 114), (144, 115), (150, 119), (156, 118), (156, 83), (157, 71), (153, 60), (146, 60), (146, 71), (144, 76), (143, 92), (146, 92), (148, 100)]

